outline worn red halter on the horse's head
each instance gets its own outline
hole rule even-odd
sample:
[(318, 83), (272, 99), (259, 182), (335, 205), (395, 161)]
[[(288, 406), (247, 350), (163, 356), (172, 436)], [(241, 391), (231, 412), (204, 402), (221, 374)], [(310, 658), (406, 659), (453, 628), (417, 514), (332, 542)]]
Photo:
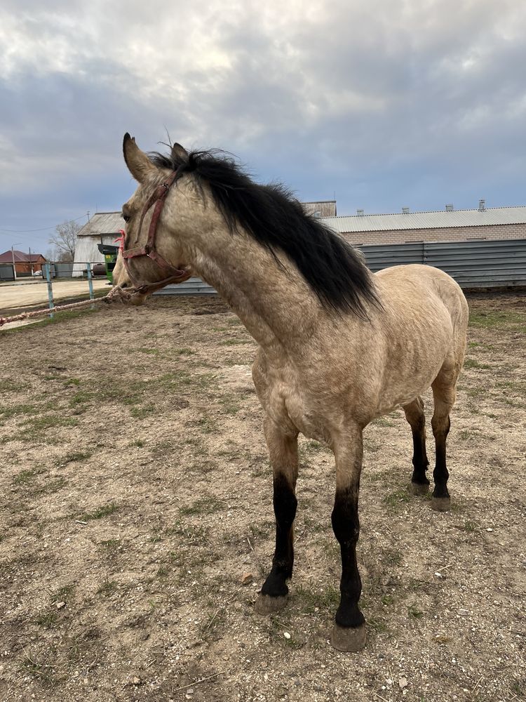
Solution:
[[(170, 186), (173, 185), (175, 178), (177, 178), (177, 171), (172, 173), (168, 178), (166, 178), (166, 180), (163, 183), (161, 183), (161, 185), (156, 187), (156, 189), (154, 190), (154, 192), (152, 192), (146, 204), (142, 208), (137, 239), (139, 239), (140, 237), (144, 216), (146, 215), (149, 208), (154, 203), (156, 203), (154, 213), (151, 216), (151, 222), (148, 230), (148, 239), (145, 246), (141, 246), (137, 249), (124, 250), (124, 237), (121, 242), (121, 253), (124, 261), (124, 266), (126, 267), (126, 272), (128, 273), (131, 282), (133, 282), (133, 284), (135, 285), (137, 293), (147, 295), (148, 293), (153, 293), (154, 291), (163, 288), (169, 283), (182, 283), (184, 282), (184, 280), (187, 280), (191, 275), (189, 271), (180, 270), (179, 268), (176, 268), (175, 266), (168, 263), (168, 261), (164, 260), (164, 258), (159, 253), (157, 253), (155, 249), (155, 234), (157, 231), (157, 223), (159, 222), (159, 217), (161, 216), (161, 210), (163, 209), (163, 204), (165, 203), (166, 195), (168, 194), (168, 190), (170, 190)], [(135, 279), (133, 273), (130, 270), (129, 259), (138, 258), (139, 256), (147, 256), (148, 258), (153, 260), (154, 263), (156, 263), (161, 269), (164, 269), (166, 270), (166, 272), (170, 273), (170, 275), (164, 278), (163, 280), (159, 280), (156, 283), (142, 283), (139, 280)]]

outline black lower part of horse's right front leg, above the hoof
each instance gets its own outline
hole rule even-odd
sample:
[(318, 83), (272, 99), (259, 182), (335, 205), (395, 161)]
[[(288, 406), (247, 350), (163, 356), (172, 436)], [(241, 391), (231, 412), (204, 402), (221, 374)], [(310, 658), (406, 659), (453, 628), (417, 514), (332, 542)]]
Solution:
[(342, 552), (342, 580), (339, 585), (341, 598), (336, 623), (344, 627), (358, 627), (365, 621), (358, 609), (362, 592), (362, 581), (356, 563), (356, 543), (360, 534), (358, 486), (352, 491), (337, 492), (332, 510), (332, 529)]

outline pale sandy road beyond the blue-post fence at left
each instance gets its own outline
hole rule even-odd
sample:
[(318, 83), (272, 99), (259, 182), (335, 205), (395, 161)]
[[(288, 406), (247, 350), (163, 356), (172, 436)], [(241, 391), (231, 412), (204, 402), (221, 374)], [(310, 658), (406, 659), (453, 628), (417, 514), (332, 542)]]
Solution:
[[(109, 290), (107, 278), (95, 278), (93, 290)], [(65, 300), (82, 296), (88, 298), (90, 294), (87, 280), (58, 280), (53, 281), (53, 298)], [(0, 316), (18, 314), (41, 305), (48, 304), (48, 285), (45, 281), (5, 283), (0, 285)]]

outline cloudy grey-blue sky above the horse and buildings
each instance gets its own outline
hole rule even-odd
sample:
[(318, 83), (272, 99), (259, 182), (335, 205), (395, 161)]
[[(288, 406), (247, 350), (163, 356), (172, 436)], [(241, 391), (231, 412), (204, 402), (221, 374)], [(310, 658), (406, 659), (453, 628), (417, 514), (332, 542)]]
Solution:
[(0, 253), (135, 190), (123, 134), (339, 215), (526, 205), (526, 3), (2, 0)]

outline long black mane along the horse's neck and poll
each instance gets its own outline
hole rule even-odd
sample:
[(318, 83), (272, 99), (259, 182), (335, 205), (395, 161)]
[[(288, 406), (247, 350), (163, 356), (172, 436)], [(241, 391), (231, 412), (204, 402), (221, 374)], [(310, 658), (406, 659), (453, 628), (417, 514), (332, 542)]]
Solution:
[(258, 185), (229, 154), (182, 147), (170, 156), (149, 154), (161, 168), (191, 173), (212, 192), (229, 230), (238, 226), (278, 258), (283, 251), (325, 306), (366, 318), (364, 301), (378, 304), (370, 272), (360, 254), (319, 220), (306, 214), (284, 185)]

